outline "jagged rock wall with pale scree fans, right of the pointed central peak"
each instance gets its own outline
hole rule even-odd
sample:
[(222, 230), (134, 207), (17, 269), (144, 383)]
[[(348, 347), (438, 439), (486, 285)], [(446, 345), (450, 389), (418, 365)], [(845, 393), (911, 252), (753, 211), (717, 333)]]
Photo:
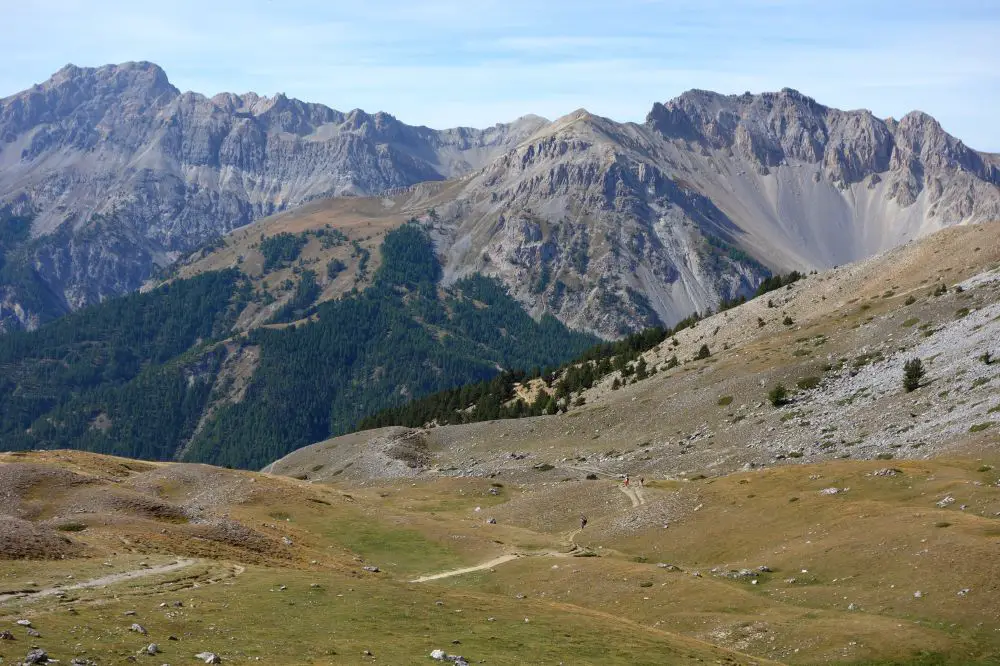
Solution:
[(744, 245), (780, 268), (847, 263), (1000, 217), (997, 156), (921, 112), (897, 122), (789, 89), (691, 91), (656, 104), (644, 128), (678, 175), (746, 232)]

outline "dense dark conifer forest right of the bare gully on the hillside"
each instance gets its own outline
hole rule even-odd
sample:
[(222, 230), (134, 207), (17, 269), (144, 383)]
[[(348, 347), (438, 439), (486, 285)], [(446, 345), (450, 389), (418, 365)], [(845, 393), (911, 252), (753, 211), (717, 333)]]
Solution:
[(378, 410), (500, 368), (557, 364), (595, 342), (552, 317), (535, 322), (493, 280), (442, 290), (440, 273), (427, 235), (408, 224), (386, 237), (371, 287), (321, 305), (318, 321), (251, 333), (262, 356), (246, 397), (221, 410), (186, 457), (263, 466)]

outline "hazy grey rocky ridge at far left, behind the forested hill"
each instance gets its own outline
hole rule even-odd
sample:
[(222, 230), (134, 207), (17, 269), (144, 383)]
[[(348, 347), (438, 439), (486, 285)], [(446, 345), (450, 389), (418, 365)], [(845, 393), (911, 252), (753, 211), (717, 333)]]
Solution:
[[(436, 131), (280, 94), (181, 93), (150, 63), (70, 65), (0, 100), (0, 204), (35, 216), (25, 270), (77, 308), (310, 199), (467, 173), (544, 122)], [(0, 328), (36, 326), (38, 309), (0, 285)]]

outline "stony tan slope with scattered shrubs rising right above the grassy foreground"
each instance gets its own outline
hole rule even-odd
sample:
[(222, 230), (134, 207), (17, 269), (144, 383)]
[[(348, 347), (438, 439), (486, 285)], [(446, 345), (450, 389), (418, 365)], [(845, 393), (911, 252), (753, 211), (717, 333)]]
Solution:
[[(550, 468), (543, 478), (581, 470), (691, 477), (782, 462), (921, 458), (995, 443), (998, 267), (1000, 224), (948, 229), (698, 321), (640, 355), (645, 377), (636, 371), (640, 356), (622, 369), (609, 363), (606, 374), (588, 361), (590, 386), (565, 393), (565, 372), (550, 377), (539, 388), (565, 413), (359, 432), (268, 469), (360, 480), (374, 473), (363, 461), (410, 440), (428, 452), (406, 469), (418, 478), (534, 475), (535, 465)], [(702, 345), (710, 355), (697, 359)], [(907, 393), (910, 358), (923, 360), (927, 376)], [(788, 396), (774, 406), (768, 394), (777, 384)], [(513, 399), (504, 392), (492, 402)], [(451, 408), (467, 410), (459, 421), (475, 420), (472, 405), (458, 400)], [(405, 409), (385, 416), (377, 422), (409, 418)]]

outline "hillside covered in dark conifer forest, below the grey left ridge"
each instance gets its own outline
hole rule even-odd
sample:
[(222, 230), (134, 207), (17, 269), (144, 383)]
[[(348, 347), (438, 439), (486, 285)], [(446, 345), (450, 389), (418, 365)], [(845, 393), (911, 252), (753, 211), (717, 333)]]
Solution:
[[(418, 224), (364, 229), (363, 241), (325, 226), (308, 242), (288, 231), (258, 241), (275, 270), (292, 275), (294, 264), (299, 281), (281, 301), (268, 303), (252, 269), (232, 267), (0, 337), (0, 448), (259, 468), (385, 407), (556, 365), (595, 341), (532, 320), (486, 278), (440, 287)], [(334, 280), (299, 256), (348, 248), (352, 268)], [(350, 291), (322, 301), (336, 279)], [(240, 331), (265, 317), (276, 323)]]

